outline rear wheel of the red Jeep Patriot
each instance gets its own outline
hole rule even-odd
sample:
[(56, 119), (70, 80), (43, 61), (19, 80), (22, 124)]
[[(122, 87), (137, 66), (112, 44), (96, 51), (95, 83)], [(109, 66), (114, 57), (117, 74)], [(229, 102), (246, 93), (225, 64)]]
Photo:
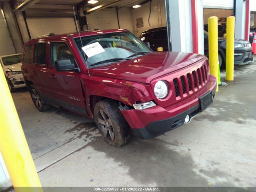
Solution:
[(45, 112), (51, 108), (51, 106), (46, 104), (46, 102), (42, 99), (34, 85), (31, 85), (29, 90), (32, 101), (38, 109), (38, 111)]

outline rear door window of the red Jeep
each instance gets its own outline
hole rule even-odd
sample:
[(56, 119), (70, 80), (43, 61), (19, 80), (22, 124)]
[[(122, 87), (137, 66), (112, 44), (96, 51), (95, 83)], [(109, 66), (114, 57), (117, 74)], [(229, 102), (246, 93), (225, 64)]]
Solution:
[(46, 43), (34, 45), (34, 63), (46, 65)]

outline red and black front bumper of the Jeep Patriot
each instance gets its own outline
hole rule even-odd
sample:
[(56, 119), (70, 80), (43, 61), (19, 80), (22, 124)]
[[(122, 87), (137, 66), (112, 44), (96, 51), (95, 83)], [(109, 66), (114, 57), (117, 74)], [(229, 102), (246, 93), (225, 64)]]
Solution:
[(122, 110), (122, 114), (134, 133), (142, 139), (150, 139), (184, 124), (186, 115), (195, 116), (201, 111), (199, 98), (207, 92), (215, 95), (216, 78), (211, 77), (206, 86), (178, 104), (166, 108), (154, 106), (145, 110)]

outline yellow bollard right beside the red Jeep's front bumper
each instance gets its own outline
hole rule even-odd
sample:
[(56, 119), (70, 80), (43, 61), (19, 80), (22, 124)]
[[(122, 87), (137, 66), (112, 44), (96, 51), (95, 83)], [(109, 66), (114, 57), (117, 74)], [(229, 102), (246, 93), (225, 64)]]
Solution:
[[(209, 32), (209, 65), (210, 74), (218, 80), (218, 18), (212, 16), (208, 18)], [(217, 83), (216, 92), (219, 91)]]

